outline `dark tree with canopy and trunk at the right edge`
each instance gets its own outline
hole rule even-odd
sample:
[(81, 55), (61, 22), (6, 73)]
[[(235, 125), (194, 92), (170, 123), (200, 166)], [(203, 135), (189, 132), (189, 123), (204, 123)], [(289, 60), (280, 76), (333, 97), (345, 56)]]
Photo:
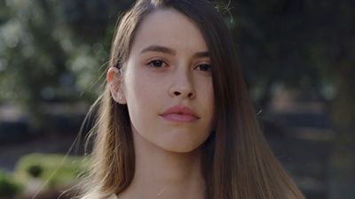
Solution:
[(353, 198), (355, 176), (354, 1), (240, 0), (233, 34), (256, 102), (272, 85), (315, 88), (335, 128), (330, 198)]

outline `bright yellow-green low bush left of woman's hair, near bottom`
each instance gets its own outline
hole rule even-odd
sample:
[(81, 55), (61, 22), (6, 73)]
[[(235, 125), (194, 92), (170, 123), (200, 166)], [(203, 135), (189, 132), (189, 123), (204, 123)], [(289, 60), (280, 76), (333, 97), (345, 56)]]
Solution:
[(46, 186), (53, 188), (75, 182), (83, 169), (83, 157), (30, 154), (20, 158), (14, 173), (21, 181), (37, 178), (43, 182), (47, 181)]

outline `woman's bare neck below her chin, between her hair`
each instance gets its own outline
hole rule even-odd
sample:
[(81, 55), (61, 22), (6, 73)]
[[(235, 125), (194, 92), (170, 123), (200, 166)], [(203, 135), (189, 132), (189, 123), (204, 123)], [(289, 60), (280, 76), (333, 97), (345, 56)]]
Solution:
[(204, 198), (201, 149), (177, 153), (158, 148), (134, 132), (133, 138), (135, 175), (120, 199)]

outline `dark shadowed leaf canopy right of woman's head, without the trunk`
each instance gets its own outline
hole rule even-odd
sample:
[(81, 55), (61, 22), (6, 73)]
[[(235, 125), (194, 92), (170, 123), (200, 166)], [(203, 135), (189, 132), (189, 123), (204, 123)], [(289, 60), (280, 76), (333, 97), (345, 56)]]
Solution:
[(256, 101), (267, 100), (277, 84), (319, 92), (338, 86), (338, 64), (353, 60), (355, 50), (354, 12), (349, 11), (354, 5), (346, 0), (233, 1), (233, 35)]

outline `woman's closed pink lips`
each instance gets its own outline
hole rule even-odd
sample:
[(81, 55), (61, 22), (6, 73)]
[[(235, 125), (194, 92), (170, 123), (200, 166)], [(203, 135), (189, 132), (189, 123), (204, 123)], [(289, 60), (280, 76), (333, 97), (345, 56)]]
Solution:
[(162, 118), (177, 122), (193, 122), (200, 117), (191, 109), (183, 105), (173, 106), (161, 114)]

